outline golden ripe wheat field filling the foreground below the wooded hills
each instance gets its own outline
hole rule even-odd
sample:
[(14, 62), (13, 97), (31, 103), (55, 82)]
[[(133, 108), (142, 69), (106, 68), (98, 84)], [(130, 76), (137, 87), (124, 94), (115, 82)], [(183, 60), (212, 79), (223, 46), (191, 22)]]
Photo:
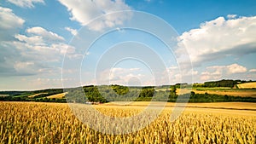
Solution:
[[(112, 117), (129, 117), (142, 112), (148, 102), (132, 102), (125, 105), (108, 103), (92, 107)], [(67, 104), (0, 102), (0, 106), (0, 143), (256, 142), (254, 103), (191, 103), (174, 122), (170, 120), (174, 103), (168, 103), (160, 117), (152, 124), (143, 130), (125, 135), (107, 135), (91, 130), (73, 115)], [(243, 110), (244, 107), (252, 110)], [(88, 115), (84, 118), (88, 118)], [(95, 118), (95, 122), (98, 120), (100, 119)], [(137, 123), (143, 124), (140, 121)], [(111, 123), (100, 126), (104, 128), (109, 124)]]

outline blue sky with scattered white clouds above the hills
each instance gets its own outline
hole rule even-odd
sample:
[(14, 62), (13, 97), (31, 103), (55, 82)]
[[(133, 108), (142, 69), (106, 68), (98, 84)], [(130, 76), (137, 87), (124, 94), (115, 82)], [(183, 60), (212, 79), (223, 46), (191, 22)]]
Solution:
[(0, 90), (256, 79), (254, 0), (3, 0)]

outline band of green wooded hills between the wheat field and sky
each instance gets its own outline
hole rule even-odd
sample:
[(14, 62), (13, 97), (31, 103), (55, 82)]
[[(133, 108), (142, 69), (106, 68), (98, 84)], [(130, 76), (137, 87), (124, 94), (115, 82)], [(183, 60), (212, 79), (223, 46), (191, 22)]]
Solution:
[[(87, 85), (81, 88), (70, 89), (41, 89), (33, 91), (2, 91), (0, 101), (40, 101), (40, 102), (101, 102), (108, 101), (169, 101), (169, 102), (230, 102), (245, 101), (256, 102), (255, 97), (243, 95), (230, 95), (226, 89), (251, 89), (256, 85), (253, 81), (241, 80), (219, 80), (205, 82), (204, 84), (193, 84), (200, 93), (189, 91), (187, 94), (177, 95), (177, 89), (181, 85), (175, 84), (163, 86), (123, 86), (123, 85)], [(207, 93), (206, 90), (216, 90)], [(255, 89), (256, 90), (256, 89)], [(220, 93), (221, 92), (221, 93)], [(245, 91), (246, 92), (246, 91)], [(255, 91), (253, 91), (254, 93)]]

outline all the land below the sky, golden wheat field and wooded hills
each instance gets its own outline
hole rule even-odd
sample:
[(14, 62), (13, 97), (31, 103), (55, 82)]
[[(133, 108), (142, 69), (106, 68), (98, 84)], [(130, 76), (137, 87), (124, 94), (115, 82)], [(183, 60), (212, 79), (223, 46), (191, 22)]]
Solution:
[[(176, 84), (3, 91), (0, 143), (255, 143), (256, 91), (235, 82), (197, 84), (190, 90)], [(171, 121), (176, 106), (184, 111)], [(113, 118), (135, 121), (113, 123)], [(80, 120), (89, 120), (90, 126)]]

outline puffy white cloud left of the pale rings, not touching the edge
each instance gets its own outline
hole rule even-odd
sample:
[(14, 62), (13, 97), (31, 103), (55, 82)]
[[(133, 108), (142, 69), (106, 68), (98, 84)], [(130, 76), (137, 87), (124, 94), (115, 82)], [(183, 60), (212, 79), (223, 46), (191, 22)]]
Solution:
[(42, 56), (41, 60), (58, 61), (64, 54), (69, 56), (75, 53), (73, 47), (62, 43), (63, 37), (49, 32), (43, 27), (28, 28), (26, 35), (16, 34), (15, 38), (18, 41), (11, 42), (11, 45), (20, 49), (20, 55), (25, 57), (37, 55), (38, 57)]

